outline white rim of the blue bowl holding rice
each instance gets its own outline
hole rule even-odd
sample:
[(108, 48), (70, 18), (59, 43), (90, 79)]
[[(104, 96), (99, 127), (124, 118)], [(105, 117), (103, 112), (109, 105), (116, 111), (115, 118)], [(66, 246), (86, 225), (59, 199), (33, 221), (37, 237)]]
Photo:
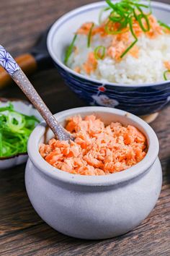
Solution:
[[(117, 0), (116, 0), (117, 1)], [(115, 2), (116, 2), (115, 1)], [(146, 2), (146, 1), (143, 1)], [(58, 29), (58, 27), (60, 27), (62, 25), (63, 22), (65, 22), (66, 20), (69, 20), (72, 16), (74, 16), (75, 14), (81, 13), (81, 12), (87, 12), (89, 9), (95, 9), (95, 8), (99, 8), (99, 7), (103, 7), (104, 5), (106, 5), (105, 1), (98, 1), (95, 3), (91, 3), (91, 4), (86, 4), (82, 7), (78, 7), (76, 9), (73, 9), (70, 12), (67, 12), (66, 14), (63, 14), (63, 16), (61, 16), (58, 20), (56, 20), (52, 27), (50, 27), (50, 31), (48, 32), (48, 38), (47, 38), (47, 47), (48, 47), (48, 52), (51, 56), (51, 58), (53, 59), (53, 61), (58, 64), (59, 67), (61, 67), (61, 69), (64, 69), (66, 72), (72, 74), (74, 77), (79, 77), (79, 79), (83, 79), (83, 80), (87, 80), (89, 82), (94, 82), (97, 83), (99, 85), (103, 84), (103, 85), (110, 85), (110, 86), (117, 86), (117, 87), (125, 87), (125, 88), (141, 88), (141, 87), (153, 87), (153, 86), (158, 86), (158, 85), (168, 85), (170, 83), (170, 81), (162, 81), (162, 82), (153, 82), (153, 83), (146, 83), (146, 84), (134, 84), (134, 85), (128, 85), (128, 84), (118, 84), (118, 83), (114, 83), (114, 82), (107, 82), (107, 81), (102, 81), (102, 80), (96, 80), (93, 79), (91, 77), (87, 77), (83, 74), (79, 74), (75, 71), (73, 71), (73, 69), (70, 69), (69, 67), (67, 67), (60, 59), (58, 59), (58, 57), (55, 55), (55, 52), (53, 51), (53, 38), (56, 34), (56, 30)], [(164, 10), (168, 10), (170, 12), (170, 4), (165, 4), (165, 3), (161, 3), (161, 2), (157, 2), (157, 1), (151, 1), (151, 6), (152, 7), (157, 7), (157, 9), (164, 9)]]

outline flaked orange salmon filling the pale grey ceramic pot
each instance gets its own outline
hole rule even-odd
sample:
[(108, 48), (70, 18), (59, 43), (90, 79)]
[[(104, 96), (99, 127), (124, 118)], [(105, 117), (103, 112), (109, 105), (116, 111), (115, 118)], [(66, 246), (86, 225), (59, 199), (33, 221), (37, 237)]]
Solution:
[(112, 122), (105, 126), (97, 116), (73, 116), (66, 129), (76, 139), (51, 139), (40, 145), (40, 155), (50, 165), (71, 174), (106, 175), (123, 171), (143, 160), (146, 137), (135, 127)]

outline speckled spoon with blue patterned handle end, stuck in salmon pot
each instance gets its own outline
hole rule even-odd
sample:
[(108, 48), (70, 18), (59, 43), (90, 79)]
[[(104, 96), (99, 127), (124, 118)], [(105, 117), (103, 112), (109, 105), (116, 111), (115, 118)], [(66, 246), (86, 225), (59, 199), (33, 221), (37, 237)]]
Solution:
[(48, 107), (40, 98), (40, 95), (37, 93), (31, 82), (27, 79), (22, 69), (18, 66), (17, 62), (12, 58), (12, 56), (6, 51), (6, 49), (0, 45), (0, 65), (6, 69), (6, 72), (10, 74), (14, 82), (17, 83), (19, 88), (23, 93), (29, 98), (31, 103), (37, 108), (37, 111), (40, 112), (43, 119), (47, 122), (50, 129), (52, 129), (55, 137), (58, 137), (58, 140), (73, 140), (73, 137), (70, 133), (64, 129), (61, 124), (58, 124), (53, 114), (50, 112)]

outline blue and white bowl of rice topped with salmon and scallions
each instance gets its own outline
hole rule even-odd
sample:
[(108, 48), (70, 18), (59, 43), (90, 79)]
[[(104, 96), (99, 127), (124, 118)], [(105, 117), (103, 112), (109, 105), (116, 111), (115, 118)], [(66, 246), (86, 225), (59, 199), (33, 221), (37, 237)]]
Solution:
[(170, 101), (170, 6), (100, 1), (74, 9), (48, 34), (48, 51), (66, 84), (90, 105), (137, 115)]

